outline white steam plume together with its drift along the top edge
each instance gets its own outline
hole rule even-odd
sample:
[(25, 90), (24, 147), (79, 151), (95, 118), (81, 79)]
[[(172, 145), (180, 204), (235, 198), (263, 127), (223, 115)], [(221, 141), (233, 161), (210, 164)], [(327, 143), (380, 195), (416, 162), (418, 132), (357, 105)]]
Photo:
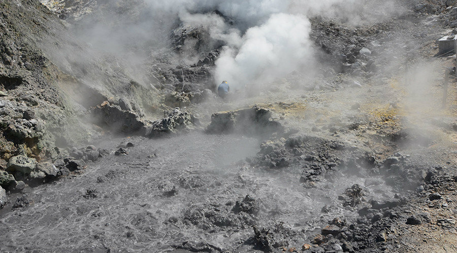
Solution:
[[(184, 24), (204, 27), (213, 39), (224, 41), (226, 46), (216, 62), (215, 85), (227, 80), (234, 88), (262, 85), (292, 71), (309, 69), (313, 50), (308, 16), (336, 18), (357, 25), (402, 12), (393, 1), (383, 2), (381, 8), (379, 3), (369, 0), (174, 0), (165, 5), (157, 1), (150, 3), (153, 8), (167, 11), (180, 6), (179, 17)], [(227, 25), (216, 14), (201, 14), (213, 10), (232, 18), (234, 24)]]

